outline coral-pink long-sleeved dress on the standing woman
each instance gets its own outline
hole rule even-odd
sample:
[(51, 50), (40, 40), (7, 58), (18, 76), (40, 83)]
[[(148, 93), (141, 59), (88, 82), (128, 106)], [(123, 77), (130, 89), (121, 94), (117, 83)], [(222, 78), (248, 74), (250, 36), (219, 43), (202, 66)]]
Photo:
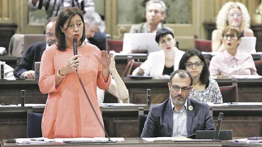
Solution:
[[(78, 54), (82, 57), (79, 57), (77, 72), (103, 123), (96, 86), (107, 90), (111, 78), (105, 83), (102, 64), (93, 55), (94, 52), (100, 55), (100, 50), (89, 43), (78, 49)], [(55, 44), (43, 52), (38, 86), (42, 94), (48, 93), (48, 97), (42, 118), (42, 135), (48, 138), (105, 137), (85, 97), (76, 72), (67, 74), (55, 87), (55, 74), (65, 66), (73, 54), (73, 49), (59, 51)]]

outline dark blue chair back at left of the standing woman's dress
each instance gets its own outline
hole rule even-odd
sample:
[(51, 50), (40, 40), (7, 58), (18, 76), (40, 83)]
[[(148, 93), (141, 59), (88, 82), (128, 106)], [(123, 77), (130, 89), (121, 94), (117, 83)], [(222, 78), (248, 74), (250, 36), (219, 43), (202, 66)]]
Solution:
[(27, 138), (42, 137), (42, 113), (27, 113)]

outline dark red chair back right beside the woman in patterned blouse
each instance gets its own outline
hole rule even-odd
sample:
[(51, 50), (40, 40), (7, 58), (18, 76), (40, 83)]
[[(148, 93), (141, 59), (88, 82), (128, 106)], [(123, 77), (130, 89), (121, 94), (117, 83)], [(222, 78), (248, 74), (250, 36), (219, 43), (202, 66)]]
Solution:
[(221, 86), (219, 87), (223, 102), (238, 102), (238, 89), (237, 81), (232, 80), (232, 86)]

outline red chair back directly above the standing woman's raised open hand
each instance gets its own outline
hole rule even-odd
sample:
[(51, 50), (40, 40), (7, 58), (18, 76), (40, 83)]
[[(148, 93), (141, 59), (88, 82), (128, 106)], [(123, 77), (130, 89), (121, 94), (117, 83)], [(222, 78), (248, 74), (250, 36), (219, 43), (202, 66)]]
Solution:
[(123, 49), (123, 40), (106, 39), (106, 50), (114, 50), (116, 53), (120, 53)]

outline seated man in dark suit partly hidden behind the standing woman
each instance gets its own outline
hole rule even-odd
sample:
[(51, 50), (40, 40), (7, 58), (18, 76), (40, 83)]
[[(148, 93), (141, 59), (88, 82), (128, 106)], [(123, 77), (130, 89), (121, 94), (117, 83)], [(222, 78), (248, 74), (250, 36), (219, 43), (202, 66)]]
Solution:
[(13, 71), (15, 77), (35, 78), (35, 62), (41, 61), (43, 51), (57, 42), (54, 34), (56, 20), (57, 18), (50, 17), (44, 26), (46, 41), (34, 43), (26, 49), (21, 61), (16, 65)]

